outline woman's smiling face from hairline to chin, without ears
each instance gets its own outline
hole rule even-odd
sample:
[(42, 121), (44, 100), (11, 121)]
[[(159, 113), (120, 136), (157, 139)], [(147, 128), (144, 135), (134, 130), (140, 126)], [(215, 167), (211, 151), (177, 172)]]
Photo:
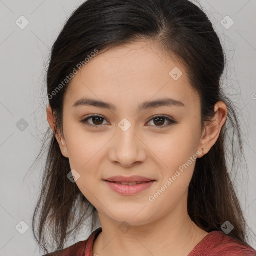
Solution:
[[(108, 105), (73, 106), (82, 98)], [(139, 41), (96, 55), (64, 97), (64, 155), (80, 175), (80, 191), (101, 216), (120, 223), (181, 214), (200, 155), (200, 114), (184, 67), (157, 45)], [(105, 181), (134, 175), (153, 181), (132, 188)]]

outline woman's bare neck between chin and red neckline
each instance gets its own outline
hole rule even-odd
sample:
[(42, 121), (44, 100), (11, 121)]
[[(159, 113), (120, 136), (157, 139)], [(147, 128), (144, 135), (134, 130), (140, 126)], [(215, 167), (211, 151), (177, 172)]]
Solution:
[(126, 229), (121, 229), (119, 222), (98, 214), (102, 232), (92, 250), (93, 255), (98, 256), (182, 256), (189, 254), (208, 234), (195, 225), (184, 208), (144, 225), (126, 226)]

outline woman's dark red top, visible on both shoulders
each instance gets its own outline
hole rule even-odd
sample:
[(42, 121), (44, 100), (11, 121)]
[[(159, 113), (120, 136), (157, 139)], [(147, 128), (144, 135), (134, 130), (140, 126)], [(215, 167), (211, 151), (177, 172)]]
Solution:
[[(87, 240), (79, 241), (65, 249), (43, 256), (93, 256), (92, 246), (101, 227), (94, 230)], [(222, 231), (208, 233), (188, 254), (188, 256), (256, 256), (256, 250)]]

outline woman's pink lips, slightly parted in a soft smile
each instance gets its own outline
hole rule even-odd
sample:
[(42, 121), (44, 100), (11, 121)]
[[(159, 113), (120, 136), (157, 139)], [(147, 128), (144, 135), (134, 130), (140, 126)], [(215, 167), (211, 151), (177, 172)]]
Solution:
[[(115, 192), (121, 195), (134, 195), (149, 188), (156, 180), (142, 176), (114, 176), (104, 179), (104, 182)], [(137, 185), (123, 185), (116, 182), (143, 182)]]

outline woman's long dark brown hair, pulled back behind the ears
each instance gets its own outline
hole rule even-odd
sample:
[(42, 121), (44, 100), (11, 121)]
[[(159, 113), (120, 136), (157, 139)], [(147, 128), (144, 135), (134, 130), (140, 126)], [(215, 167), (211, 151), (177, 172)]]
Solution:
[[(49, 149), (33, 214), (34, 236), (46, 252), (50, 244), (62, 249), (67, 238), (89, 216), (92, 231), (97, 212), (67, 178), (69, 160), (62, 155), (55, 137), (58, 131), (63, 134), (66, 76), (78, 70), (79, 63), (85, 65), (84, 59), (95, 49), (100, 54), (139, 39), (156, 42), (163, 52), (173, 54), (185, 65), (190, 84), (200, 96), (202, 128), (214, 116), (217, 101), (227, 105), (227, 122), (216, 143), (196, 160), (187, 207), (191, 219), (205, 231), (221, 230), (228, 220), (234, 226), (229, 235), (246, 242), (246, 222), (229, 176), (229, 171), (235, 169), (237, 153), (243, 155), (241, 129), (235, 106), (220, 86), (225, 55), (212, 23), (188, 0), (87, 0), (72, 13), (58, 35), (47, 69), (47, 94), (55, 117), (55, 133), (49, 127), (45, 135), (44, 142), (50, 137)], [(226, 151), (230, 134), (229, 160), (233, 164), (228, 170)], [(238, 139), (237, 145), (234, 137)]]

